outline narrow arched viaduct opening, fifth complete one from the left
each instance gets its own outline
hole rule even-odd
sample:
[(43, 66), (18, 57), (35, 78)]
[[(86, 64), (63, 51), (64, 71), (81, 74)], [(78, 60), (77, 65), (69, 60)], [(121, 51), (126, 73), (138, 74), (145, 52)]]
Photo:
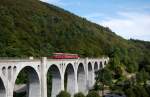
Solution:
[(91, 89), (93, 86), (93, 71), (92, 64), (88, 63), (88, 88)]

